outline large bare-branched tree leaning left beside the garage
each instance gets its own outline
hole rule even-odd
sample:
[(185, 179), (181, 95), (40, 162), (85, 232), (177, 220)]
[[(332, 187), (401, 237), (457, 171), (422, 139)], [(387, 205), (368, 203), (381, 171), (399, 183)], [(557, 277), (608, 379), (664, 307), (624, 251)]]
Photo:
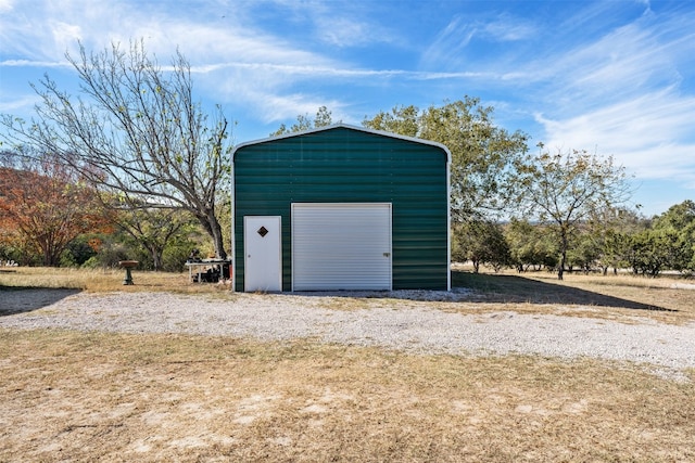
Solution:
[(80, 95), (59, 89), (48, 75), (33, 85), (41, 98), (30, 124), (3, 115), (4, 138), (53, 153), (102, 191), (131, 204), (190, 211), (226, 258), (215, 214), (227, 192), (228, 121), (219, 106), (212, 118), (193, 98), (191, 68), (177, 51), (163, 69), (142, 41), (122, 50), (66, 54), (77, 72)]

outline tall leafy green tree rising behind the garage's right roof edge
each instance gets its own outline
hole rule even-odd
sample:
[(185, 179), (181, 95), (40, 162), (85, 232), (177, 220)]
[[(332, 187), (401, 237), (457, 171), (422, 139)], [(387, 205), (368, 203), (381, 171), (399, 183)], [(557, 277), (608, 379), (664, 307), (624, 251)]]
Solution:
[(424, 111), (416, 106), (396, 106), (365, 118), (362, 124), (448, 147), (454, 221), (491, 220), (509, 205), (506, 195), (509, 167), (527, 152), (528, 136), (497, 127), (493, 108), (482, 106), (480, 99), (465, 97)]

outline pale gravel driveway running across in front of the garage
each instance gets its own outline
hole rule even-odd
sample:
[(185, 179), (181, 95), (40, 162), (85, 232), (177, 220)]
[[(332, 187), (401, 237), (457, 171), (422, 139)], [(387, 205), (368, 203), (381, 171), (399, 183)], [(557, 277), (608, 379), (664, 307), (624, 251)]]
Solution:
[[(236, 294), (232, 300), (225, 300), (169, 293), (62, 297), (30, 290), (1, 296), (5, 300), (0, 300), (0, 327), (5, 329), (187, 333), (262, 340), (312, 337), (430, 353), (590, 357), (646, 363), (671, 376), (683, 376), (680, 370), (695, 368), (695, 323), (677, 326), (644, 318), (626, 324), (510, 311), (451, 313), (438, 310), (439, 303), (417, 300), (422, 293), (413, 298), (394, 292), (388, 299), (370, 297), (356, 303), (320, 294)], [(451, 293), (434, 296), (452, 298)], [(338, 309), (345, 305), (353, 309)]]

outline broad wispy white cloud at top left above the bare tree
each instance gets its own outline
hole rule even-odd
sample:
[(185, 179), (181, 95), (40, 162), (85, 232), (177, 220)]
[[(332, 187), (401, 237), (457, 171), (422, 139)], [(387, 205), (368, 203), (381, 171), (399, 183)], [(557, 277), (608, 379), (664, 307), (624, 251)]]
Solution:
[(0, 51), (47, 62), (60, 60), (66, 51), (75, 53), (77, 40), (88, 49), (100, 50), (111, 42), (127, 46), (130, 40), (142, 38), (148, 49), (162, 59), (180, 48), (192, 63), (220, 59), (300, 64), (331, 61), (240, 24), (231, 14), (217, 16), (216, 21), (198, 21), (187, 15), (173, 16), (157, 5), (159, 2), (136, 4), (126, 0), (63, 0), (60, 4), (47, 1), (35, 9), (30, 21), (22, 12), (0, 18)]

